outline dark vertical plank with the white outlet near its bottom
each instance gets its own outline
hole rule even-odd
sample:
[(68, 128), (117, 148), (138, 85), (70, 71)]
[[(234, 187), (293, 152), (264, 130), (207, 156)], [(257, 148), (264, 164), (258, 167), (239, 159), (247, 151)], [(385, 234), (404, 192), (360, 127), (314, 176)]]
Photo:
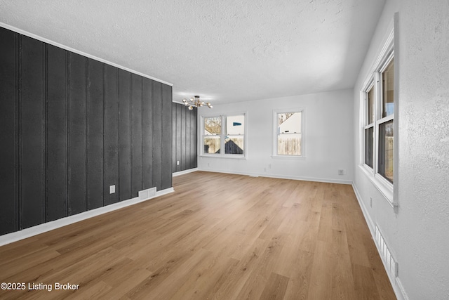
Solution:
[(118, 193), (109, 194), (109, 186), (119, 183), (119, 128), (118, 128), (118, 112), (119, 112), (119, 95), (117, 91), (117, 68), (104, 64), (104, 93), (105, 93), (105, 119), (104, 119), (104, 159), (105, 159), (105, 175), (104, 189), (105, 205), (119, 201)]

